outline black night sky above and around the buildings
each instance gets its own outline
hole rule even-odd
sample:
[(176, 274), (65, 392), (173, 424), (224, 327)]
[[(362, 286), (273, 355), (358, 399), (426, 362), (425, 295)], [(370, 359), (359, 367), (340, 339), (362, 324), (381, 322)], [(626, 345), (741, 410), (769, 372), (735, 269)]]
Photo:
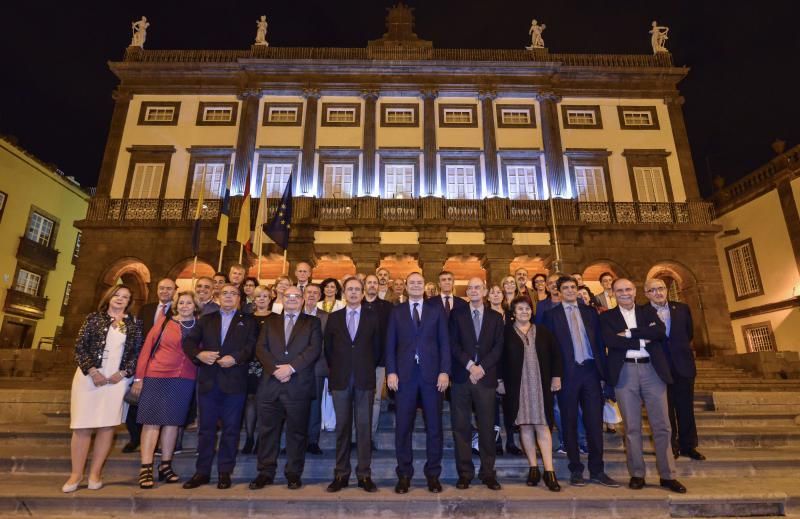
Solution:
[[(273, 46), (363, 47), (384, 32), (394, 0), (279, 2), (37, 2), (4, 5), (0, 133), (94, 185), (116, 86), (106, 65), (151, 22), (149, 49), (246, 49), (266, 14)], [(800, 7), (792, 1), (408, 0), (416, 32), (439, 48), (521, 48), (530, 19), (551, 52), (648, 53), (653, 19), (691, 67), (681, 84), (700, 188), (728, 182), (773, 156), (776, 138), (800, 143)]]

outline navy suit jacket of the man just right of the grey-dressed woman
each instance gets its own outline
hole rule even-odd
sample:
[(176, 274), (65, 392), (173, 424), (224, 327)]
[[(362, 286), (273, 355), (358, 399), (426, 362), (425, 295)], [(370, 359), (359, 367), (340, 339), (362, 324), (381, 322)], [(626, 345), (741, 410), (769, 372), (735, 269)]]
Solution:
[[(600, 379), (606, 380), (608, 378), (606, 348), (603, 344), (603, 334), (600, 330), (600, 319), (597, 317), (597, 311), (592, 307), (581, 304), (578, 305), (578, 311), (581, 313), (583, 327), (589, 337), (589, 347), (594, 357), (594, 365), (597, 367)], [(564, 306), (559, 304), (545, 312), (542, 326), (550, 330), (553, 337), (555, 337), (556, 343), (561, 350), (561, 358), (564, 364), (564, 384), (569, 384), (576, 368), (575, 348), (572, 344), (572, 334), (569, 331), (570, 326)]]

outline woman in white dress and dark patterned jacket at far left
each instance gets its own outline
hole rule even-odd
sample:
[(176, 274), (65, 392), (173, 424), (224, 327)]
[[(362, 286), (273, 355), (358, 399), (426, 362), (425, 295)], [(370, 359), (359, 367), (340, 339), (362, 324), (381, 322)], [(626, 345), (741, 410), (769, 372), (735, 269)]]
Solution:
[(78, 369), (70, 397), (72, 474), (62, 487), (64, 492), (78, 489), (95, 432), (89, 489), (103, 487), (100, 472), (111, 450), (114, 428), (125, 419), (128, 406), (123, 399), (142, 347), (141, 321), (127, 313), (132, 295), (125, 285), (111, 287), (78, 332)]

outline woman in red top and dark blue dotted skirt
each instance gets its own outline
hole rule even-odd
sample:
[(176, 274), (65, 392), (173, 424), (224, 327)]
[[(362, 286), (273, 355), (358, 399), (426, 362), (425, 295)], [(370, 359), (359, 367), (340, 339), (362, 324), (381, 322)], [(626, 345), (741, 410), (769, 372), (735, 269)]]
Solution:
[(185, 424), (189, 413), (197, 376), (197, 368), (183, 353), (181, 343), (197, 323), (200, 304), (190, 290), (178, 292), (175, 299), (172, 308), (176, 315), (167, 323), (157, 322), (147, 335), (133, 383), (133, 391), (140, 393), (136, 421), (143, 424), (142, 467), (139, 471), (141, 488), (155, 486), (153, 453), (159, 433), (161, 463), (158, 466), (158, 480), (167, 483), (180, 480), (172, 470), (172, 454), (178, 427)]

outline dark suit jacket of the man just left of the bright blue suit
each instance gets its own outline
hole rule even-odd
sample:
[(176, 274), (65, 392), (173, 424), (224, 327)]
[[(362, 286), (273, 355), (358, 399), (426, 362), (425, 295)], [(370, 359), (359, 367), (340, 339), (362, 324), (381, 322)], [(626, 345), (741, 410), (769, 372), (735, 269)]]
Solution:
[(378, 316), (361, 305), (355, 339), (347, 330), (347, 307), (333, 312), (325, 329), (325, 358), (331, 390), (347, 389), (353, 378), (356, 389), (375, 389), (375, 366), (381, 354), (381, 331)]

